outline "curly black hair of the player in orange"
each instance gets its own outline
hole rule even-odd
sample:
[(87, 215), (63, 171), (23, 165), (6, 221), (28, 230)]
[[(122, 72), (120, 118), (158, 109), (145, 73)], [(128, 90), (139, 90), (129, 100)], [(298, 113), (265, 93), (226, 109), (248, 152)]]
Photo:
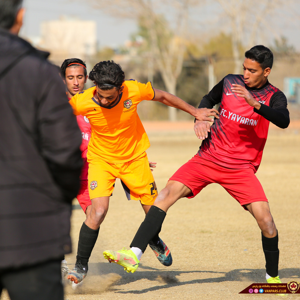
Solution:
[(125, 73), (121, 66), (113, 60), (100, 61), (93, 67), (93, 70), (88, 75), (88, 79), (95, 82), (101, 90), (107, 91), (114, 87), (119, 89), (125, 80)]

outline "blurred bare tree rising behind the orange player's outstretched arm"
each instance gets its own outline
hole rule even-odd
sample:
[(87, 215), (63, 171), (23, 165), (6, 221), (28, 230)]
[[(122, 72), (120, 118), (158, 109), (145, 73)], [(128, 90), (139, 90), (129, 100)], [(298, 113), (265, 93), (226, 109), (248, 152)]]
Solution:
[[(189, 9), (196, 0), (91, 0), (95, 7), (108, 13), (126, 18), (135, 18), (143, 22), (149, 38), (149, 67), (155, 67), (161, 73), (167, 91), (176, 95), (176, 84), (182, 71), (185, 35)], [(173, 26), (166, 23), (173, 15)], [(171, 22), (170, 22), (171, 23)], [(151, 70), (149, 76), (153, 76)], [(170, 121), (176, 120), (176, 109), (169, 108)]]

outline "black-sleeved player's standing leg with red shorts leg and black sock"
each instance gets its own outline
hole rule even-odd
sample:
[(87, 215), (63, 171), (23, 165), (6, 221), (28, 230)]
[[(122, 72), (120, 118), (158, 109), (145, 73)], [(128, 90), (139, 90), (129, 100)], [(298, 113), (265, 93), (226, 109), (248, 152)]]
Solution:
[(279, 260), (278, 233), (265, 192), (252, 169), (228, 169), (227, 171), (227, 173), (223, 173), (226, 183), (221, 185), (255, 217), (262, 231), (262, 249), (266, 260), (266, 278), (267, 280), (270, 277), (277, 278)]

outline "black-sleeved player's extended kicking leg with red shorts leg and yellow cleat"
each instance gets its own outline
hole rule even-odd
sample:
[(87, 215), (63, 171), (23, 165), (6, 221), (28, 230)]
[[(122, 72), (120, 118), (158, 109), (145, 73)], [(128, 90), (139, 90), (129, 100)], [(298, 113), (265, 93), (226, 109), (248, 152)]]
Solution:
[[(155, 199), (154, 204), (149, 209), (145, 220), (138, 229), (130, 247), (138, 248), (142, 253), (146, 250), (149, 241), (153, 237), (159, 234), (161, 226), (166, 216), (166, 212), (171, 205), (173, 205), (178, 199), (186, 196), (188, 198), (194, 197), (203, 187), (213, 182), (210, 177), (211, 175), (210, 162), (204, 161), (195, 155), (190, 161), (184, 164), (176, 173), (170, 178), (166, 187), (161, 190)], [(126, 263), (117, 262), (124, 267), (127, 272), (134, 272), (138, 267), (139, 261), (136, 255), (128, 251), (104, 251), (112, 254), (112, 257), (126, 261), (132, 259), (132, 263), (136, 262), (134, 266), (128, 268)], [(104, 253), (105, 257), (105, 253)], [(107, 258), (107, 257), (106, 257)], [(107, 258), (109, 259), (109, 258)], [(114, 261), (116, 262), (116, 261)]]

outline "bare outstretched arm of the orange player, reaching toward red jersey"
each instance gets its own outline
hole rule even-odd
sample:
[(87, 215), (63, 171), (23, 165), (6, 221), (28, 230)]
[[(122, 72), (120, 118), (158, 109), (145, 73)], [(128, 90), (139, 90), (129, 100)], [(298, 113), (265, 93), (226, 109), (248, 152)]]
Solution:
[(214, 116), (215, 118), (219, 119), (218, 115), (219, 112), (214, 108), (195, 108), (192, 105), (186, 103), (179, 97), (176, 97), (166, 91), (161, 91), (154, 88), (155, 97), (153, 101), (161, 102), (165, 105), (179, 108), (180, 110), (189, 113), (190, 115), (194, 116), (197, 120), (202, 121), (210, 121), (213, 122), (214, 119), (209, 118), (210, 116)]

